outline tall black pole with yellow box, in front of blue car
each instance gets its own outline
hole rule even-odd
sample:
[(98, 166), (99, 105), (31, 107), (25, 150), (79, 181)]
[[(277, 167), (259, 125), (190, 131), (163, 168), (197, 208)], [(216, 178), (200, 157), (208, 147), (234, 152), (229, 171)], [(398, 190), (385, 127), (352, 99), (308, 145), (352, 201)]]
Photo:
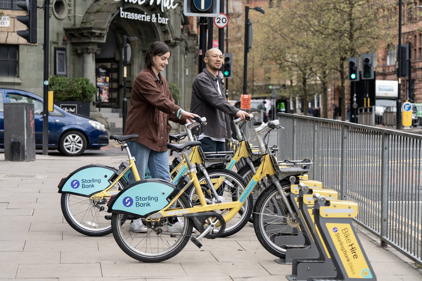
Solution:
[(50, 41), (50, 1), (44, 0), (44, 101), (43, 101), (43, 155), (49, 154), (49, 41)]

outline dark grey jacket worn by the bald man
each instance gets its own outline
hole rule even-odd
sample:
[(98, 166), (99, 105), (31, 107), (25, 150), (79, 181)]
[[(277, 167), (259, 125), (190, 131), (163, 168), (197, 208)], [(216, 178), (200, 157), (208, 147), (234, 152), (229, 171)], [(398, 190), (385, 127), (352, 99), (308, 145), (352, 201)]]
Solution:
[(206, 135), (215, 138), (230, 138), (230, 120), (227, 114), (236, 116), (239, 109), (219, 94), (217, 85), (222, 93), (224, 89), (220, 83), (217, 84), (217, 79), (205, 68), (195, 77), (192, 83), (190, 112), (206, 117), (207, 125), (203, 126), (203, 132)]

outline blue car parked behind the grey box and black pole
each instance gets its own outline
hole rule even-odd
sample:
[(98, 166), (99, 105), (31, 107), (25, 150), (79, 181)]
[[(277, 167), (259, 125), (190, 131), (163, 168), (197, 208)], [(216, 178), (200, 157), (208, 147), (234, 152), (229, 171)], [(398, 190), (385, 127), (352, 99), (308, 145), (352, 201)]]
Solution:
[[(32, 103), (35, 111), (35, 149), (43, 148), (43, 98), (18, 89), (0, 88), (0, 148), (4, 148), (3, 103)], [(85, 149), (108, 145), (104, 125), (80, 115), (68, 113), (54, 105), (49, 112), (49, 149), (67, 156), (78, 156)]]

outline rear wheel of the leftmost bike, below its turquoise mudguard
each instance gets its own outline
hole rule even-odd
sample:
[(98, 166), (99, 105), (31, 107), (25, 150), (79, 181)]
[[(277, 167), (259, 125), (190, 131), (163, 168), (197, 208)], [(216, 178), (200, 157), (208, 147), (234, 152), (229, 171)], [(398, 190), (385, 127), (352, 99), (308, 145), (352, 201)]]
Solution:
[[(109, 191), (122, 190), (118, 181)], [(107, 213), (110, 197), (92, 200), (89, 197), (62, 193), (60, 205), (66, 222), (77, 232), (87, 236), (104, 236), (111, 233), (111, 216)]]

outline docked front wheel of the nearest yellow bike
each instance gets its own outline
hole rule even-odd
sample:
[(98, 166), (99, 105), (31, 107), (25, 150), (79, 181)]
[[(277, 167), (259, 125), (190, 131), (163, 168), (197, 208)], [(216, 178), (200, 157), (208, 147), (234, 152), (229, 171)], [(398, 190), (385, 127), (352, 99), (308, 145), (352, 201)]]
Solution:
[[(280, 182), (289, 198), (290, 184)], [(293, 206), (292, 209), (294, 210)], [(293, 223), (275, 185), (266, 188), (258, 198), (254, 209), (254, 230), (261, 245), (271, 254), (285, 258), (289, 248), (302, 247), (305, 240), (298, 238), (302, 226)]]

